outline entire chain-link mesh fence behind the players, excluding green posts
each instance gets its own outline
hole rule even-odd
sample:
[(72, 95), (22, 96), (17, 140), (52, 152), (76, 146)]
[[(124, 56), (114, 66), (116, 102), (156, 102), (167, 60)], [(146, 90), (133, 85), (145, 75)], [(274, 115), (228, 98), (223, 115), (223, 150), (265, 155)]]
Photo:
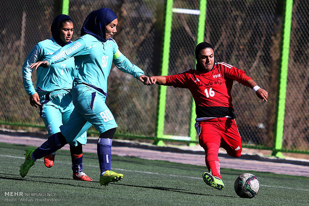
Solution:
[[(28, 103), (21, 67), (34, 45), (51, 37), (50, 25), (61, 0), (0, 1), (0, 124), (44, 127)], [(110, 7), (119, 17), (114, 37), (120, 50), (147, 75), (161, 70), (165, 0), (70, 0), (73, 40), (86, 16)], [(199, 0), (174, 0), (173, 8), (198, 10)], [(282, 0), (207, 0), (204, 40), (215, 46), (216, 61), (244, 70), (269, 92), (263, 103), (234, 84), (232, 95), (243, 143), (273, 148), (284, 23)], [(282, 150), (309, 152), (309, 1), (294, 0)], [(198, 15), (172, 15), (168, 74), (194, 68)], [(33, 82), (35, 74), (33, 73)], [(117, 135), (153, 139), (157, 128), (158, 86), (146, 87), (113, 67), (107, 104), (119, 125)], [(164, 134), (189, 136), (191, 95), (167, 88)]]

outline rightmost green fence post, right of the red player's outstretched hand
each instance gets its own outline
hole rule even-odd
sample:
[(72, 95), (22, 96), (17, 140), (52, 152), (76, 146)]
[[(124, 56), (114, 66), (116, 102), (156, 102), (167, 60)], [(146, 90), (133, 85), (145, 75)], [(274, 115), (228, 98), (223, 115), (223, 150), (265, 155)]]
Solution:
[(282, 30), (283, 39), (282, 39), (282, 48), (280, 55), (278, 88), (277, 88), (274, 145), (272, 153), (272, 155), (276, 157), (283, 157), (283, 154), (282, 152), (280, 152), (280, 150), (282, 149), (282, 142), (283, 142), (292, 11), (293, 11), (293, 0), (286, 0), (283, 30)]

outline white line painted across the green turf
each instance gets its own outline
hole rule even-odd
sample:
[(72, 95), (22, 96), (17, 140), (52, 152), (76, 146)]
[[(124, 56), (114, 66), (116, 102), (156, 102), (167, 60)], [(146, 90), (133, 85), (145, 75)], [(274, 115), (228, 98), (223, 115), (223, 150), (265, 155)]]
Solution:
[[(16, 156), (10, 156), (10, 155), (0, 155), (0, 157), (10, 157), (10, 158), (18, 158), (18, 159), (24, 159), (24, 157), (16, 157)], [(37, 161), (43, 161), (43, 159), (37, 160)], [(58, 161), (57, 162), (61, 162), (61, 163), (67, 163), (67, 162), (62, 162), (62, 161)], [(70, 164), (71, 163), (67, 163)], [(99, 167), (96, 165), (83, 165), (83, 166), (87, 166), (87, 167)], [(115, 170), (121, 170), (121, 171), (126, 171), (126, 172), (138, 172), (138, 173), (145, 173), (145, 174), (152, 174), (152, 175), (162, 175), (160, 173), (156, 173), (156, 172), (145, 172), (145, 171), (136, 171), (136, 170), (126, 170), (126, 169), (120, 169), (120, 168), (115, 168)], [(166, 175), (166, 174), (164, 174)], [(181, 178), (191, 178), (191, 179), (203, 179), (203, 178), (198, 178), (198, 177), (187, 177), (187, 176), (181, 176), (181, 175), (166, 175), (166, 176), (170, 176), (170, 177), (181, 177)], [(299, 188), (288, 188), (288, 187), (277, 187), (277, 186), (270, 186), (270, 185), (261, 185), (263, 187), (269, 187), (269, 188), (280, 188), (280, 189), (288, 189), (288, 190), (300, 190), (300, 191), (309, 191), (309, 189), (299, 189)]]

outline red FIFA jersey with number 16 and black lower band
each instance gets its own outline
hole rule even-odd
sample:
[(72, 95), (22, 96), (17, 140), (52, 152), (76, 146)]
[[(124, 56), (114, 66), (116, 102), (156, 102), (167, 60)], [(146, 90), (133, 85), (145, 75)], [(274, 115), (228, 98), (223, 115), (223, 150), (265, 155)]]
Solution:
[(215, 63), (209, 72), (187, 70), (180, 74), (165, 76), (165, 86), (187, 88), (195, 101), (197, 118), (235, 118), (231, 90), (233, 81), (245, 85), (251, 80), (246, 73), (224, 62)]

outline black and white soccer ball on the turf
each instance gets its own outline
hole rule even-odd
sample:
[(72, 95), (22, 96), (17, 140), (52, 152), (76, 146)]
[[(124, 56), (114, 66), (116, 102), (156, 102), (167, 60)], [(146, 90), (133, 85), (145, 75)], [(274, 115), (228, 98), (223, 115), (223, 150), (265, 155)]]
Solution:
[(256, 176), (244, 173), (235, 180), (234, 189), (241, 198), (254, 198), (260, 190), (260, 181)]

